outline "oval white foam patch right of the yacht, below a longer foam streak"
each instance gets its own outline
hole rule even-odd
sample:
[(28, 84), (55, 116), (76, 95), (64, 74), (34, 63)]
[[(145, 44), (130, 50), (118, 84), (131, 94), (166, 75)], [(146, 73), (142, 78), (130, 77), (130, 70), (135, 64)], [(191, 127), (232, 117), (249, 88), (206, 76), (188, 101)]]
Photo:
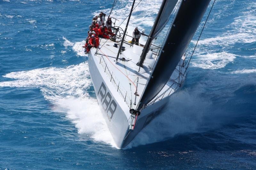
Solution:
[(220, 52), (208, 53), (199, 55), (191, 63), (194, 67), (203, 69), (220, 69), (225, 67), (228, 63), (233, 62), (236, 56), (234, 54)]

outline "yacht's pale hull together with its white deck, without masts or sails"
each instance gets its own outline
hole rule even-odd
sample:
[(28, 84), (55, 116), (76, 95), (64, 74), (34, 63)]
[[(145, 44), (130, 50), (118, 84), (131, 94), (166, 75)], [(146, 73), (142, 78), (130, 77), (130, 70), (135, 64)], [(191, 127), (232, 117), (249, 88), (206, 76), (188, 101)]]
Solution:
[[(102, 41), (104, 41), (104, 39), (102, 39)], [(134, 89), (129, 89), (129, 85), (131, 86), (132, 83), (129, 83), (127, 81), (128, 76), (124, 76), (124, 74), (121, 73), (130, 70), (130, 73), (127, 73), (127, 75), (129, 75), (130, 81), (132, 79), (132, 81), (134, 82), (136, 82), (138, 75), (140, 75), (140, 77), (144, 76), (145, 78), (141, 78), (140, 81), (138, 78), (139, 84), (137, 84), (138, 93), (142, 94), (145, 83), (147, 81), (147, 77), (150, 74), (150, 70), (148, 72), (143, 72), (142, 70), (142, 72), (137, 72), (136, 75), (135, 70), (129, 69), (129, 62), (123, 63), (125, 67), (122, 64), (115, 65), (115, 58), (107, 58), (107, 56), (111, 56), (111, 54), (113, 56), (113, 52), (115, 52), (115, 50), (118, 50), (118, 48), (113, 47), (113, 43), (114, 42), (111, 41), (107, 41), (107, 43), (105, 43), (105, 45), (109, 44), (108, 49), (110, 48), (111, 51), (109, 54), (108, 50), (104, 51), (104, 46), (101, 47), (100, 53), (103, 53), (105, 56), (96, 54), (97, 49), (92, 48), (88, 55), (88, 63), (92, 78), (92, 84), (100, 105), (101, 113), (108, 125), (108, 128), (117, 147), (124, 148), (132, 141), (132, 139), (140, 132), (141, 129), (147, 126), (148, 123), (161, 112), (161, 109), (168, 101), (168, 96), (178, 90), (180, 88), (180, 85), (177, 83), (173, 83), (172, 81), (167, 83), (164, 89), (159, 92), (159, 94), (162, 95), (159, 95), (158, 97), (153, 99), (151, 104), (142, 109), (135, 123), (135, 118), (134, 116), (131, 117), (129, 110), (130, 108), (136, 109), (136, 105), (138, 104), (140, 96), (137, 97), (133, 94)], [(126, 49), (126, 54), (132, 57), (132, 55), (134, 55), (131, 52), (132, 47), (126, 44)], [(138, 53), (140, 53), (140, 51)], [(125, 55), (124, 52), (123, 55)], [(106, 66), (104, 64), (106, 64)], [(134, 64), (132, 66), (135, 67)], [(109, 73), (111, 73), (111, 77)], [(116, 75), (115, 78), (114, 75)], [(179, 77), (180, 74), (178, 73), (177, 75), (173, 75), (176, 77), (178, 75)], [(116, 77), (118, 78), (118, 80)], [(183, 75), (182, 78), (179, 78), (179, 82), (184, 81), (184, 77), (185, 76)], [(128, 90), (130, 90), (130, 92), (128, 92)]]

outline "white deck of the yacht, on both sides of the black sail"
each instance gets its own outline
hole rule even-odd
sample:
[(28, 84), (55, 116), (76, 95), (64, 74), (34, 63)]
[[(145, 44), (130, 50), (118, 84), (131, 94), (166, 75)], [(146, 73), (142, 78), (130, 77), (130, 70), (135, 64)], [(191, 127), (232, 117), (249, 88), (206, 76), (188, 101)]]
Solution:
[[(136, 109), (155, 64), (157, 54), (150, 52), (151, 56), (148, 56), (144, 62), (145, 67), (139, 67), (136, 63), (139, 61), (143, 47), (138, 45), (131, 46), (126, 42), (123, 44), (125, 50), (121, 52), (118, 62), (115, 63), (118, 52), (118, 48), (114, 46), (115, 43), (102, 38), (99, 48), (92, 48), (91, 53), (92, 56), (94, 55), (95, 60), (100, 63), (106, 76), (128, 107)], [(183, 63), (182, 59), (181, 62)], [(185, 68), (181, 66), (182, 63), (178, 64), (170, 80), (149, 104), (154, 104), (154, 102), (169, 96), (182, 84), (185, 79), (184, 74), (182, 74), (185, 72)]]

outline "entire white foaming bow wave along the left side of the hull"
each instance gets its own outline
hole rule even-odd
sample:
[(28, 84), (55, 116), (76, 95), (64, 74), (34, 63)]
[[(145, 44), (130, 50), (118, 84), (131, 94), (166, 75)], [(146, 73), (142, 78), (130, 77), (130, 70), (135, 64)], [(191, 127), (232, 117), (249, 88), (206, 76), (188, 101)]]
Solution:
[(15, 80), (0, 82), (0, 86), (40, 88), (44, 98), (55, 105), (56, 111), (67, 113), (80, 134), (116, 147), (97, 100), (87, 93), (92, 86), (87, 62), (65, 68), (11, 72), (4, 77)]

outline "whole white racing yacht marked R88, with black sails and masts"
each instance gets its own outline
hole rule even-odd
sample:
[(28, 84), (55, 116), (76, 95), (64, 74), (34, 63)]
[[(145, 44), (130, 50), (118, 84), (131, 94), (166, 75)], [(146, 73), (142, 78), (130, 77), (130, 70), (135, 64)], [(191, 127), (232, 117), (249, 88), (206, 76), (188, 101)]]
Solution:
[[(181, 88), (189, 65), (185, 52), (210, 0), (163, 0), (144, 45), (132, 44), (127, 34), (134, 3), (125, 29), (113, 26), (115, 36), (101, 38), (88, 54), (100, 110), (119, 148), (126, 147)], [(163, 45), (154, 45), (171, 14)]]

